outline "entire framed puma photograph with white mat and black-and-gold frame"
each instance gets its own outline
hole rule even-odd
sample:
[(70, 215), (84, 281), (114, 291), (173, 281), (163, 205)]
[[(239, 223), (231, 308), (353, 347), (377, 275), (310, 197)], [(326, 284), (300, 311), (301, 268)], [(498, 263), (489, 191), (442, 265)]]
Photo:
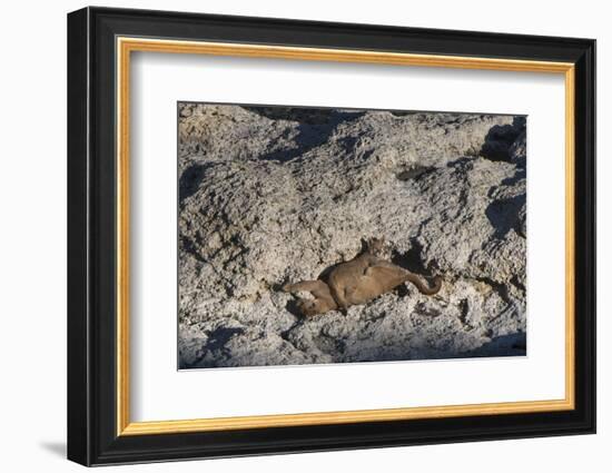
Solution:
[(68, 16), (68, 457), (595, 432), (595, 41)]

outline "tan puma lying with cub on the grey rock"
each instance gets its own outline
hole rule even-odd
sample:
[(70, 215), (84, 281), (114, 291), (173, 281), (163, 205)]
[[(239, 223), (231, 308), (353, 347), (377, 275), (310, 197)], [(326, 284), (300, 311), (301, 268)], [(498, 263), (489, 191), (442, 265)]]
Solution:
[(425, 295), (434, 295), (442, 287), (442, 278), (436, 276), (434, 286), (427, 287), (417, 275), (393, 263), (375, 256), (383, 247), (383, 239), (373, 239), (364, 253), (354, 259), (336, 266), (327, 276), (327, 282), (303, 280), (286, 284), (283, 290), (309, 292), (315, 298), (300, 298), (297, 303), (304, 316), (324, 314), (328, 311), (345, 309), (364, 304), (409, 280)]

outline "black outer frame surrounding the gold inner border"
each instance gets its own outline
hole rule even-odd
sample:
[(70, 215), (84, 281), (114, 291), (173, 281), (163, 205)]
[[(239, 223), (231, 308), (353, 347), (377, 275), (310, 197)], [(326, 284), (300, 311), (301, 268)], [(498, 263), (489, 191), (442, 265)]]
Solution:
[[(575, 68), (575, 408), (117, 435), (116, 38), (572, 62)], [(595, 432), (595, 41), (85, 8), (68, 14), (68, 459), (83, 465)]]

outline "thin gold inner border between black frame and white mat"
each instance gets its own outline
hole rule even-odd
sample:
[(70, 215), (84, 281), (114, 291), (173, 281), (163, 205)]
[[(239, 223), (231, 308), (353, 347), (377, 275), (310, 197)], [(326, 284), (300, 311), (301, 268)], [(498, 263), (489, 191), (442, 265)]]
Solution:
[[(450, 69), (482, 69), (520, 72), (561, 73), (565, 80), (565, 397), (551, 401), (521, 401), (485, 404), (442, 405), (425, 407), (379, 408), (213, 417), (168, 421), (130, 421), (129, 358), (129, 130), (130, 130), (130, 57), (131, 52), (165, 52), (233, 57), (276, 58), (292, 60), (365, 62), (395, 66), (442, 67)], [(152, 435), (241, 428), (267, 428), (359, 422), (406, 421), (458, 417), (468, 415), (501, 415), (570, 411), (575, 407), (575, 328), (574, 328), (574, 65), (571, 62), (516, 59), (413, 55), (368, 50), (320, 49), (246, 43), (200, 42), (169, 39), (117, 37), (117, 435)]]

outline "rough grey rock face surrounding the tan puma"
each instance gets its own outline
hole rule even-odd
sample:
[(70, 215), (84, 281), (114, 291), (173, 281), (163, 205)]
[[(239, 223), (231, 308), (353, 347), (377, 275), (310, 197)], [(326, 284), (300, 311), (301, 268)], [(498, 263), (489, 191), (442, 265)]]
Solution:
[[(180, 367), (525, 354), (525, 119), (179, 105)], [(304, 319), (363, 239), (444, 279)]]

